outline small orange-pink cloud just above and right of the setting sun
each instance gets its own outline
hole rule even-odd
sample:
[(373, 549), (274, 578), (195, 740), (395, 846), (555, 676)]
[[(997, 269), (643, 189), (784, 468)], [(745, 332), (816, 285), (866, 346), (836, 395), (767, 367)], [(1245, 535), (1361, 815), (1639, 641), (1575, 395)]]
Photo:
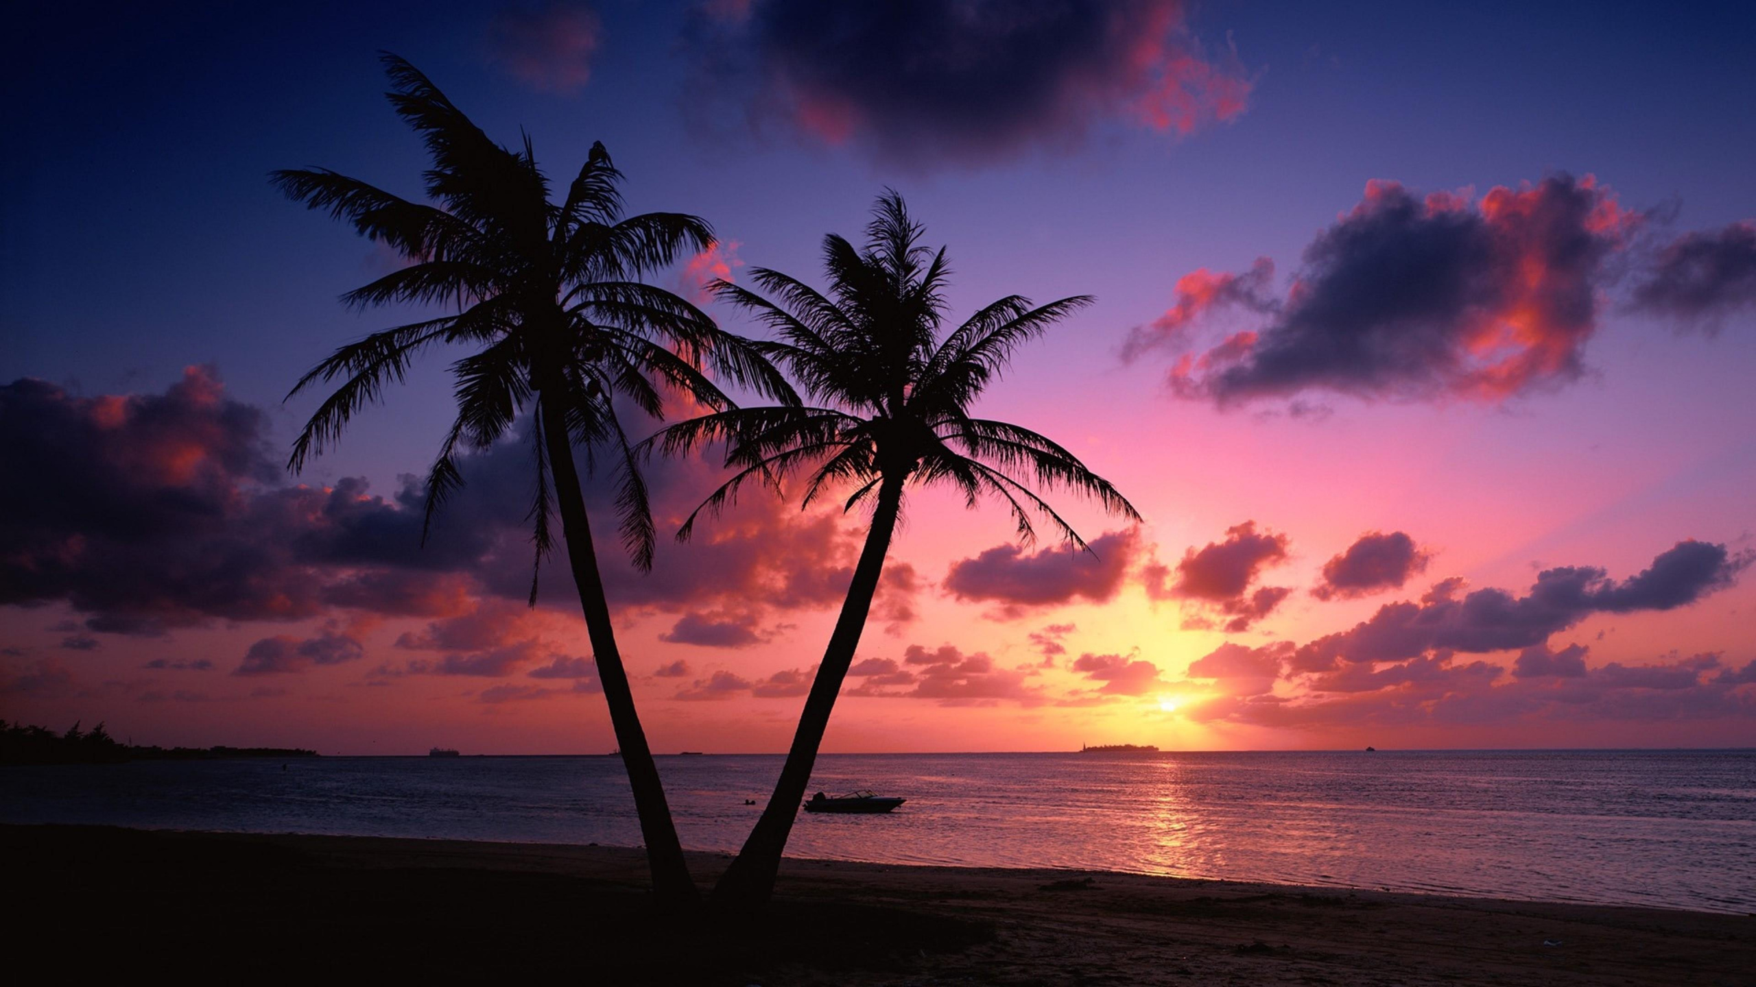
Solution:
[[(1159, 564), (1143, 569), (1147, 595), (1152, 599), (1182, 599), (1227, 616), (1226, 630), (1247, 630), (1254, 622), (1273, 613), (1280, 601), (1292, 594), (1287, 587), (1250, 587), (1261, 571), (1285, 560), (1287, 536), (1256, 530), (1256, 522), (1226, 529), (1226, 541), (1210, 541), (1201, 550), (1184, 551), (1177, 564), (1177, 580), (1166, 587), (1171, 571)], [(1192, 616), (1185, 627), (1206, 627), (1205, 618)]]

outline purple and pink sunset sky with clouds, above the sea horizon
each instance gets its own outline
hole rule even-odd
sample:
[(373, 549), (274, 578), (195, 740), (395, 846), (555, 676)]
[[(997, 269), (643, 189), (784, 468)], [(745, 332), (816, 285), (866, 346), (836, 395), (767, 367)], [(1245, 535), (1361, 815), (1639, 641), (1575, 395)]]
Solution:
[[(827, 752), (1756, 745), (1756, 11), (806, 0), (26, 5), (0, 79), (0, 717), (323, 753), (613, 745), (529, 451), (420, 546), (441, 353), (293, 476), (385, 248), (283, 198), (420, 197), (411, 60), (551, 176), (704, 216), (650, 276), (822, 283), (894, 188), (950, 321), (1098, 302), (978, 411), (1140, 509), (910, 495)], [(650, 432), (657, 423), (648, 423)], [(780, 752), (859, 513), (650, 467), (601, 536), (658, 752)], [(795, 492), (794, 492), (795, 494)], [(609, 495), (590, 483), (588, 506)], [(608, 525), (601, 525), (601, 532)]]

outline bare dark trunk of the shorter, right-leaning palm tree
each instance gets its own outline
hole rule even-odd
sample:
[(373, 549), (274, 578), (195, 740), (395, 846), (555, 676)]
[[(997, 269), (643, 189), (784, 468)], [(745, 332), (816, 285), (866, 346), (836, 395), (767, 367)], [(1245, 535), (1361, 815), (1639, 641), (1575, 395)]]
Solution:
[(787, 848), (787, 836), (799, 815), (804, 789), (811, 783), (817, 748), (824, 743), (829, 713), (836, 706), (836, 695), (841, 694), (841, 680), (846, 678), (848, 666), (853, 664), (853, 652), (866, 629), (866, 615), (878, 592), (883, 557), (890, 550), (896, 516), (903, 506), (903, 481), (901, 474), (887, 476), (878, 488), (878, 506), (873, 511), (871, 529), (866, 532), (866, 548), (860, 550), (859, 566), (853, 567), (848, 599), (841, 604), (841, 616), (836, 620), (834, 634), (829, 636), (824, 662), (817, 666), (817, 680), (811, 681), (804, 713), (799, 715), (799, 729), (792, 736), (792, 750), (787, 752), (780, 782), (774, 785), (767, 808), (762, 810), (762, 818), (750, 831), (745, 848), (738, 852), (732, 866), (713, 887), (713, 904), (722, 911), (760, 906), (774, 894), (780, 855)]

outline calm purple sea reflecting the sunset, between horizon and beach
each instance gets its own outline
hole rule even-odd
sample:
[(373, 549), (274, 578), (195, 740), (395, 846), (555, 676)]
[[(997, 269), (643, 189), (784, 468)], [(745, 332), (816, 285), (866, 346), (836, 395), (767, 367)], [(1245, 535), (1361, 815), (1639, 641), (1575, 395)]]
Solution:
[[(736, 850), (774, 755), (660, 757), (683, 845)], [(1756, 752), (825, 755), (788, 854), (1756, 913)], [(637, 845), (613, 757), (0, 769), (0, 820)]]

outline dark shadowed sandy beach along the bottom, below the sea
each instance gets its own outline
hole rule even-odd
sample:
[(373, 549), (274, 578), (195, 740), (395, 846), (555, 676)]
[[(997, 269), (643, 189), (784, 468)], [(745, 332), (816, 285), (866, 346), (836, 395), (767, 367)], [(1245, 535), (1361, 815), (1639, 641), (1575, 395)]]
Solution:
[[(90, 975), (585, 983), (1756, 983), (1756, 917), (788, 861), (734, 927), (608, 847), (0, 827), (19, 943)], [(695, 855), (697, 880), (725, 857)]]

